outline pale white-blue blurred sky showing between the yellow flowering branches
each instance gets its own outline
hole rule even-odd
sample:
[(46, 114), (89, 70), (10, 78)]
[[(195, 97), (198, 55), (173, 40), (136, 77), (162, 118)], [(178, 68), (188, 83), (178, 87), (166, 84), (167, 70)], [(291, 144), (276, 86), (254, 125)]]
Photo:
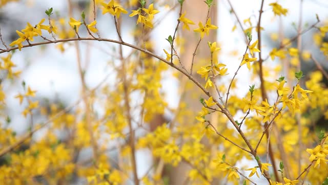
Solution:
[[(24, 3), (10, 3), (3, 8), (3, 11), (10, 17), (10, 20), (17, 20), (16, 23), (5, 23), (1, 25), (2, 34), (4, 38), (8, 36), (8, 32), (13, 32), (14, 30), (8, 30), (6, 27), (7, 24), (14, 25), (14, 29), (24, 29), (26, 22), (30, 22), (32, 25), (37, 24), (42, 18), (46, 18), (46, 14), (44, 11), (49, 7), (53, 7), (54, 11), (60, 11), (61, 15), (67, 15), (67, 1), (50, 1), (50, 0), (29, 0), (23, 1)], [(170, 1), (172, 2), (172, 1)], [(259, 0), (231, 0), (235, 11), (237, 12), (240, 20), (244, 20), (245, 18), (250, 17), (251, 15), (253, 25), (256, 25), (258, 19), (258, 10), (260, 6)], [(263, 31), (263, 48), (262, 53), (264, 57), (267, 56), (269, 50), (268, 36), (272, 32), (277, 32), (278, 30), (278, 18), (273, 16), (273, 12), (269, 7), (269, 3), (273, 3), (275, 1), (265, 1), (262, 16), (262, 27), (265, 28)], [(188, 0), (185, 1), (188, 3)], [(284, 8), (289, 9), (288, 16), (283, 17), (284, 28), (288, 29), (286, 34), (289, 36), (296, 35), (295, 30), (292, 29), (292, 23), (295, 22), (298, 25), (298, 12), (299, 12), (299, 1), (298, 0), (284, 0), (278, 1)], [(32, 8), (29, 6), (32, 4)], [(156, 6), (156, 5), (155, 5)], [(229, 76), (226, 78), (232, 78), (233, 73), (237, 69), (240, 63), (240, 59), (242, 57), (242, 52), (245, 49), (245, 43), (243, 41), (241, 31), (237, 25), (237, 30), (235, 32), (231, 32), (232, 27), (236, 23), (236, 19), (233, 14), (229, 13), (229, 4), (226, 0), (218, 0), (217, 6), (218, 8), (218, 38), (217, 42), (221, 44), (221, 55), (219, 57), (219, 61), (226, 64), (228, 67)], [(167, 9), (160, 8), (161, 12), (158, 13), (155, 17), (159, 18), (165, 14)], [(312, 25), (316, 22), (315, 13), (317, 13), (322, 21), (327, 20), (327, 11), (328, 10), (328, 1), (310, 1), (304, 0), (303, 3), (303, 24), (308, 23)], [(80, 16), (80, 13), (74, 12), (75, 18)], [(255, 16), (254, 16), (255, 15)], [(127, 15), (125, 16), (126, 20), (128, 20)], [(170, 13), (169, 16), (166, 17), (160, 24), (160, 26), (154, 29), (152, 36), (154, 41), (156, 41), (156, 52), (161, 54), (164, 57), (164, 53), (162, 52), (163, 48), (168, 48), (168, 43), (165, 40), (166, 36), (162, 36), (162, 38), (155, 38), (155, 35), (170, 35), (173, 34), (174, 27), (170, 27), (170, 23), (172, 20), (176, 20), (177, 14), (176, 12)], [(203, 17), (201, 17), (203, 19)], [(19, 21), (18, 21), (19, 20)], [(116, 32), (113, 29), (113, 21), (112, 17), (107, 15), (101, 15), (98, 12), (97, 17), (97, 27), (100, 30), (101, 37), (117, 39)], [(256, 21), (255, 21), (256, 20)], [(199, 20), (192, 20), (195, 23), (198, 23)], [(23, 24), (20, 24), (23, 23)], [(127, 21), (128, 25), (135, 24), (134, 22)], [(213, 23), (214, 24), (214, 23)], [(11, 28), (13, 26), (10, 26)], [(191, 29), (195, 29), (197, 25), (191, 27)], [(163, 29), (165, 28), (165, 29)], [(247, 28), (244, 26), (244, 28)], [(83, 29), (81, 29), (83, 30)], [(253, 41), (257, 38), (256, 32), (253, 31)], [(125, 31), (122, 33), (125, 42), (131, 41), (131, 35), (129, 35), (129, 31)], [(86, 34), (83, 34), (86, 35)], [(303, 35), (303, 44), (302, 47), (304, 49), (309, 49), (313, 46), (311, 34)], [(11, 41), (6, 41), (10, 43)], [(100, 47), (108, 48), (109, 44), (107, 43), (99, 43), (92, 42), (94, 45), (99, 45)], [(79, 89), (80, 89), (80, 79), (78, 75), (77, 65), (76, 65), (76, 52), (74, 47), (70, 47), (63, 54), (60, 53), (58, 49), (55, 49), (55, 45), (50, 44), (44, 50), (41, 50), (42, 47), (33, 47), (33, 48), (23, 48), (21, 52), (17, 51), (13, 55), (12, 61), (17, 64), (17, 69), (23, 69), (23, 73), (21, 79), (17, 81), (17, 84), (14, 86), (8, 86), (9, 93), (7, 94), (7, 105), (9, 106), (8, 114), (12, 119), (11, 126), (17, 131), (17, 133), (23, 133), (26, 131), (26, 125), (22, 123), (27, 123), (25, 118), (20, 114), (23, 109), (23, 106), (19, 106), (19, 102), (17, 99), (13, 97), (17, 95), (19, 92), (22, 93), (23, 89), (20, 86), (21, 82), (24, 80), (27, 85), (30, 85), (32, 89), (37, 89), (38, 97), (48, 97), (54, 98), (58, 96), (61, 100), (67, 102), (66, 105), (70, 105), (75, 102), (79, 97)], [(80, 48), (82, 53), (86, 49), (85, 44), (80, 44)], [(238, 50), (239, 57), (231, 57), (229, 52), (232, 50)], [(126, 48), (125, 53), (129, 53), (130, 49)], [(111, 72), (111, 69), (107, 66), (107, 61), (111, 59), (108, 54), (97, 50), (92, 49), (91, 53), (91, 65), (89, 65), (86, 80), (87, 84), (90, 88), (96, 86), (103, 78)], [(4, 57), (6, 54), (0, 54), (1, 57)], [(34, 58), (34, 56), (36, 56)], [(85, 61), (85, 55), (82, 55), (83, 61)], [(268, 60), (265, 62), (265, 65), (274, 65), (274, 62)], [(238, 78), (239, 77), (239, 78)], [(242, 77), (242, 78), (240, 78)], [(243, 96), (248, 91), (248, 86), (250, 85), (249, 81), (249, 70), (246, 66), (243, 66), (238, 72), (238, 86), (240, 89), (240, 96)], [(113, 81), (115, 78), (114, 74), (108, 78), (108, 83)], [(166, 77), (165, 80), (162, 81), (162, 89), (166, 91), (167, 97), (166, 100), (169, 103), (170, 107), (176, 107), (178, 102), (177, 95), (177, 87), (178, 81), (174, 78)], [(256, 87), (259, 87), (259, 83), (255, 84)], [(149, 162), (145, 162), (145, 156), (149, 155), (147, 152), (138, 152), (137, 157), (138, 161), (138, 174), (142, 176), (145, 171), (148, 169)], [(151, 161), (150, 161), (151, 162)]]

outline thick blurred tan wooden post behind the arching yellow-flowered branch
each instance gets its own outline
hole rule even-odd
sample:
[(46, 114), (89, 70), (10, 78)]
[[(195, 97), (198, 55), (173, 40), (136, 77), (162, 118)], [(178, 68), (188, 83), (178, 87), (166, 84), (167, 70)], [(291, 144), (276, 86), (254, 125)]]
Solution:
[[(210, 18), (211, 23), (214, 25), (217, 24), (217, 0), (213, 1), (213, 6), (210, 10)], [(208, 12), (208, 6), (200, 0), (188, 0), (183, 3), (183, 10), (182, 12), (186, 11), (186, 17), (192, 20), (195, 25), (190, 26), (190, 31), (183, 30), (182, 31), (182, 38), (185, 38), (185, 52), (180, 55), (181, 62), (185, 65), (187, 70), (190, 70), (191, 62), (193, 58), (193, 53), (196, 48), (196, 44), (200, 39), (200, 34), (193, 31), (193, 29), (198, 28), (198, 23), (201, 22), (203, 25), (206, 24), (206, 17)], [(196, 71), (198, 70), (195, 68), (197, 64), (199, 64), (201, 59), (209, 59), (210, 50), (208, 46), (208, 41), (216, 42), (216, 30), (210, 30), (210, 35), (205, 35), (202, 39), (194, 59), (194, 67), (193, 67), (193, 76), (197, 78), (197, 80), (201, 83), (204, 82), (204, 79), (200, 79), (200, 76), (197, 75)], [(186, 78), (183, 76), (183, 78)], [(185, 79), (181, 79), (181, 81), (186, 81)], [(188, 81), (188, 80), (187, 80)], [(189, 83), (189, 82), (187, 82)], [(183, 85), (183, 84), (182, 84)], [(197, 94), (195, 96), (195, 94)], [(195, 98), (196, 97), (196, 98)], [(192, 109), (195, 113), (197, 113), (201, 109), (201, 104), (199, 103), (199, 97), (204, 97), (202, 91), (199, 90), (198, 87), (194, 86), (191, 90), (188, 90), (183, 97), (182, 101), (188, 102), (188, 108)], [(204, 97), (205, 98), (205, 97)], [(195, 115), (196, 116), (196, 115)], [(212, 119), (214, 118), (214, 119)], [(216, 125), (217, 119), (216, 117), (212, 117), (212, 123)], [(185, 163), (181, 163), (175, 169), (170, 171), (170, 184), (183, 184), (187, 178), (187, 172), (189, 171), (190, 166)]]

